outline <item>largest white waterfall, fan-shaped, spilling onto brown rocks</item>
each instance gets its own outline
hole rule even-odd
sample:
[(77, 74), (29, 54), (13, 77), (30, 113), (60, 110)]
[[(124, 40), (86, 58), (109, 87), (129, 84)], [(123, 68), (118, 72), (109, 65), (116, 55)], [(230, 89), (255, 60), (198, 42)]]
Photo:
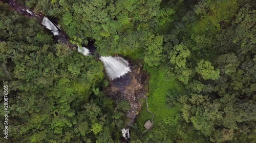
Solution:
[(129, 63), (121, 57), (101, 56), (99, 58), (111, 80), (130, 72)]

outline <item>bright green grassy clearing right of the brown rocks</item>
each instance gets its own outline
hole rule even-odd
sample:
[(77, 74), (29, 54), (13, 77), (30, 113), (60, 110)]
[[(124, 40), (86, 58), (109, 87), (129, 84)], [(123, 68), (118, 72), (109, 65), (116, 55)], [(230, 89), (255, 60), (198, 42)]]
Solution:
[[(181, 109), (181, 106), (175, 106), (168, 108), (165, 105), (166, 94), (169, 90), (178, 89), (181, 90), (179, 84), (176, 82), (175, 77), (166, 77), (166, 66), (158, 68), (148, 68), (147, 71), (150, 73), (150, 91), (148, 93), (148, 106), (149, 109), (154, 113), (154, 127), (152, 131), (159, 130), (164, 126), (163, 120), (170, 117), (176, 117), (177, 113)], [(177, 116), (180, 117), (180, 116)], [(146, 104), (143, 104), (143, 109), (140, 112), (140, 118), (137, 123), (141, 130), (144, 130), (144, 123), (147, 120), (151, 120), (152, 115), (146, 111)], [(177, 122), (177, 118), (175, 120)]]

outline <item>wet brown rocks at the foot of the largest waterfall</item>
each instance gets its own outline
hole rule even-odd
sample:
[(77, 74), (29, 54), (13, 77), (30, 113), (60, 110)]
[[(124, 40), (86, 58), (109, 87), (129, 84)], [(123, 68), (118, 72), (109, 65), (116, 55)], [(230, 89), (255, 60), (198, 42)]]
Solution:
[(148, 74), (143, 70), (141, 63), (131, 66), (132, 72), (112, 80), (106, 93), (114, 100), (126, 99), (131, 104), (130, 114), (137, 115), (142, 107), (142, 99), (146, 96)]

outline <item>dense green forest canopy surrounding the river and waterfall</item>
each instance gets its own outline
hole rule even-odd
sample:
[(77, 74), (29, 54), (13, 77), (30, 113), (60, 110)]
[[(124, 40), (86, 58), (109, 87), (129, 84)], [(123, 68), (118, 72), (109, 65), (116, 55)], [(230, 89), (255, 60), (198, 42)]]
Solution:
[[(96, 53), (144, 64), (154, 127), (142, 134), (151, 119), (144, 105), (130, 142), (256, 142), (254, 0), (16, 3), (57, 18), (72, 44), (94, 39)], [(10, 108), (9, 140), (0, 142), (120, 142), (129, 103), (105, 96), (109, 79), (95, 55), (55, 42), (2, 2), (0, 52)]]

